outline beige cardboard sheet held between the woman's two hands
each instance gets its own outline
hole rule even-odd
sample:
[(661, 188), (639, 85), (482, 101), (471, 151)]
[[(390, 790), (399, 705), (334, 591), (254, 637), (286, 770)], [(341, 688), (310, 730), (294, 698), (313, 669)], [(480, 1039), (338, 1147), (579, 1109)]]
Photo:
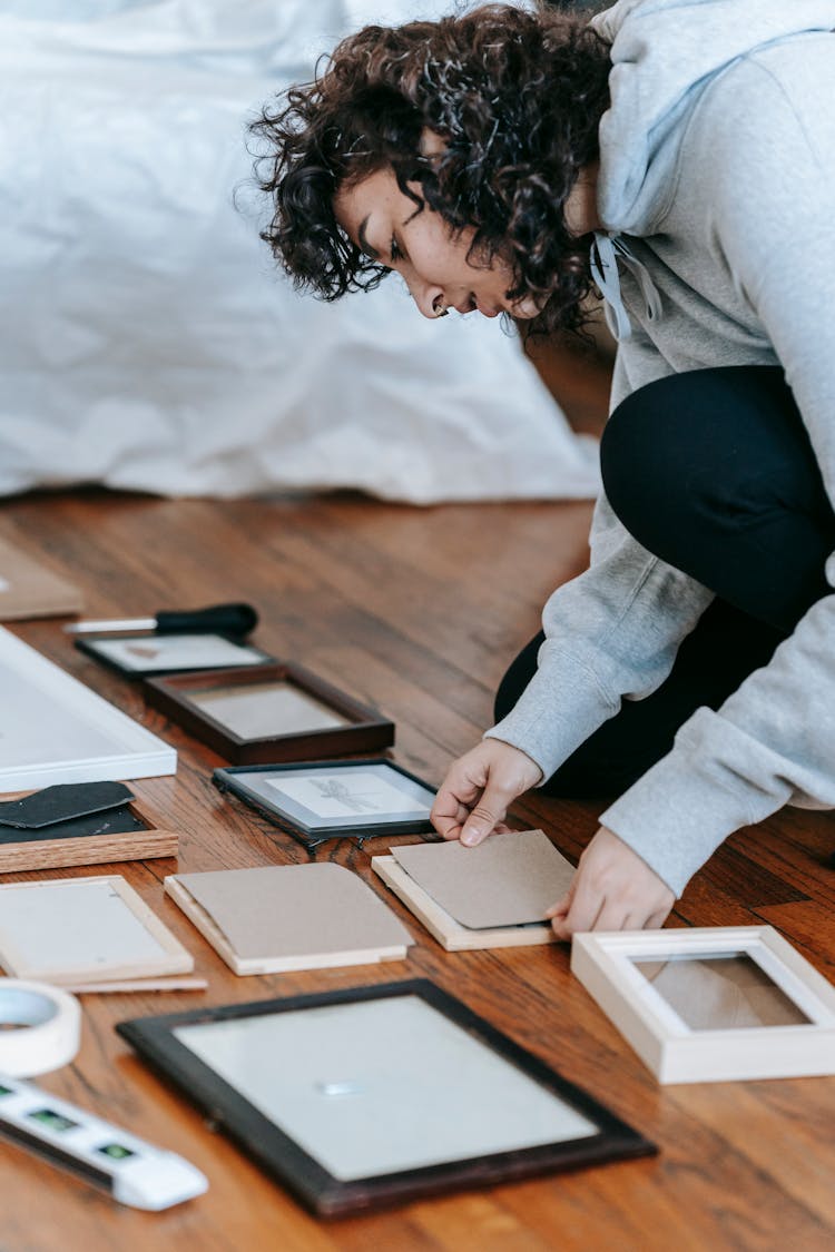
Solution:
[(471, 929), (542, 921), (575, 873), (541, 830), (491, 835), (477, 848), (458, 841), (411, 844), (392, 848), (392, 855), (442, 909)]

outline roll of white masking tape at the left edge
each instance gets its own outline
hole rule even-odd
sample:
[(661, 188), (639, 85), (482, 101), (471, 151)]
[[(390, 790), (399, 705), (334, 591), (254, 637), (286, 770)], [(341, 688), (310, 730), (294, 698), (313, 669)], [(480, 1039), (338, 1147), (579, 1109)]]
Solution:
[(46, 983), (0, 978), (0, 1073), (34, 1078), (74, 1059), (81, 1010), (69, 992)]

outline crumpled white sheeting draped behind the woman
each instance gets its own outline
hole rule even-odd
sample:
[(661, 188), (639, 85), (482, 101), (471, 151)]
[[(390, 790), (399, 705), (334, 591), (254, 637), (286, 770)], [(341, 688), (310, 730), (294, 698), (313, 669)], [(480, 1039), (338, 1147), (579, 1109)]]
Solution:
[(513, 337), (427, 322), (397, 279), (300, 297), (233, 204), (254, 109), (418, 8), (0, 0), (0, 492), (595, 493)]

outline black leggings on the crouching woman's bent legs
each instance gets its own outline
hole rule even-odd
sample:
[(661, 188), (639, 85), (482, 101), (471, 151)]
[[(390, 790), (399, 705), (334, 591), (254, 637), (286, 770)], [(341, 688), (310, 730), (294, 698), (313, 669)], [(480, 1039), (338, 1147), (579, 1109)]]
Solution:
[[(830, 590), (824, 563), (835, 548), (835, 515), (777, 367), (699, 369), (641, 387), (608, 419), (601, 467), (630, 533), (717, 598), (657, 691), (625, 700), (542, 789), (575, 799), (625, 791), (697, 707), (717, 709), (765, 665)], [(542, 640), (502, 679), (497, 721), (527, 686)]]

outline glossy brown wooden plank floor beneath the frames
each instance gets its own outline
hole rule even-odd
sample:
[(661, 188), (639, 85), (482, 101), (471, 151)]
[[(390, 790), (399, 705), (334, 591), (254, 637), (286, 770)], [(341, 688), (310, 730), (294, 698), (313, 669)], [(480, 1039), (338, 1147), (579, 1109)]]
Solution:
[[(593, 378), (565, 378), (566, 403), (593, 414)], [(591, 388), (591, 389), (590, 389)], [(590, 408), (591, 404), (591, 408)], [(0, 536), (48, 553), (81, 585), (88, 616), (249, 600), (267, 651), (304, 662), (397, 722), (394, 757), (432, 782), (491, 720), (507, 660), (535, 632), (553, 586), (586, 561), (586, 503), (418, 510), (353, 497), (172, 502), (105, 493), (0, 506)], [(298, 844), (224, 800), (212, 752), (149, 711), (139, 687), (75, 651), (55, 621), (18, 634), (180, 754), (175, 779), (135, 791), (180, 831), (179, 869), (300, 861)], [(576, 860), (600, 805), (542, 798), (520, 825), (542, 825)], [(327, 845), (377, 890), (369, 856)], [(771, 923), (835, 979), (835, 846), (827, 814), (779, 815), (735, 835), (697, 875), (672, 924)], [(84, 1043), (43, 1085), (183, 1153), (207, 1196), (161, 1214), (119, 1208), (16, 1148), (0, 1148), (3, 1252), (139, 1248), (776, 1249), (835, 1246), (835, 1079), (661, 1089), (568, 972), (568, 950), (447, 954), (391, 896), (417, 940), (406, 962), (235, 978), (163, 896), (166, 861), (74, 871), (124, 873), (197, 958), (200, 994), (86, 995)], [(66, 871), (68, 874), (73, 871)], [(136, 1060), (114, 1023), (205, 1004), (428, 977), (587, 1087), (661, 1148), (655, 1159), (414, 1203), (330, 1224), (307, 1216)]]

